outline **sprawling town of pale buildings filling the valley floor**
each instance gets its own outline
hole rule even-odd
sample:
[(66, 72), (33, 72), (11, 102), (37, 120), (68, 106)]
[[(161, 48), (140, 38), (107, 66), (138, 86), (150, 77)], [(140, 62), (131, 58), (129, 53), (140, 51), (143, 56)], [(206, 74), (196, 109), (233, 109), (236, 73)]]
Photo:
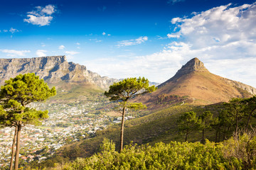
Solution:
[[(89, 101), (78, 103), (31, 103), (31, 108), (48, 110), (49, 118), (42, 125), (26, 125), (21, 132), (21, 164), (43, 162), (57, 149), (74, 141), (95, 136), (97, 130), (112, 123), (120, 123), (121, 117), (105, 114), (105, 103)], [(127, 116), (125, 120), (134, 118)], [(14, 128), (0, 129), (0, 167), (9, 166)]]

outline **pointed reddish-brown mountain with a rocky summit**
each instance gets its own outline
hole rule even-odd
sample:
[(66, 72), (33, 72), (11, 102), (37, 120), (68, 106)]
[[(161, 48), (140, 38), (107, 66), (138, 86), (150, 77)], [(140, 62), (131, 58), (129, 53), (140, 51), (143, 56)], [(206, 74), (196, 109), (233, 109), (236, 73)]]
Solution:
[(187, 62), (174, 77), (158, 87), (150, 99), (147, 97), (148, 101), (154, 101), (160, 95), (178, 95), (188, 96), (193, 104), (210, 104), (256, 94), (256, 89), (252, 86), (210, 73), (198, 58)]

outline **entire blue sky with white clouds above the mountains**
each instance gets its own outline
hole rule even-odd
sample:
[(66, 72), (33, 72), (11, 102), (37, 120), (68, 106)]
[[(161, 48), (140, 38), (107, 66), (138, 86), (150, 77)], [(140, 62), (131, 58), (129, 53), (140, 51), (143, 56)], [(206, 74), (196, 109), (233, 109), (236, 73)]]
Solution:
[(158, 83), (198, 57), (213, 74), (256, 87), (256, 1), (1, 0), (0, 58), (54, 55)]

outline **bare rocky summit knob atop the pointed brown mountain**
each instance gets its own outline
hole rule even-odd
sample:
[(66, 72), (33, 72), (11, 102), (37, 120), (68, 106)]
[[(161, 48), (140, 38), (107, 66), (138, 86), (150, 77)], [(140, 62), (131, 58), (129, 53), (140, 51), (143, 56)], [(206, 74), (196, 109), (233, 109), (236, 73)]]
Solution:
[(193, 58), (183, 65), (176, 74), (183, 75), (191, 72), (208, 72), (208, 69), (204, 67), (203, 62), (198, 60), (198, 58)]

